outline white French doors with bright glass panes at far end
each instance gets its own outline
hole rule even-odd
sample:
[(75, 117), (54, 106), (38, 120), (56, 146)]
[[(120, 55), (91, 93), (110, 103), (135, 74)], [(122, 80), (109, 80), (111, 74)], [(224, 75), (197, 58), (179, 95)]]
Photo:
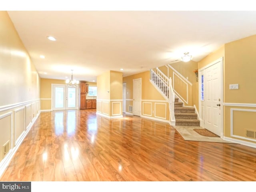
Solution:
[(78, 87), (52, 84), (52, 110), (78, 109)]

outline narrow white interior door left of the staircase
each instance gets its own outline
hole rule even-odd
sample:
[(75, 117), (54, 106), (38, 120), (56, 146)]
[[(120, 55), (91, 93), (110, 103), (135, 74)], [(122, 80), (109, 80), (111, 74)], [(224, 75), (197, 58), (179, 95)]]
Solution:
[(133, 115), (140, 116), (141, 78), (133, 80)]

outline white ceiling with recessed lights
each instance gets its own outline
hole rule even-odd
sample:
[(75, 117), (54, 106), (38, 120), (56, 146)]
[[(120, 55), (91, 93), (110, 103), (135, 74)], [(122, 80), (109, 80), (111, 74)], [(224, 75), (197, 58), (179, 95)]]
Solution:
[[(202, 58), (256, 34), (256, 11), (8, 11), (41, 78), (91, 82)], [(52, 42), (47, 36), (54, 36)], [(44, 55), (45, 59), (41, 59)], [(44, 74), (47, 73), (47, 74)]]

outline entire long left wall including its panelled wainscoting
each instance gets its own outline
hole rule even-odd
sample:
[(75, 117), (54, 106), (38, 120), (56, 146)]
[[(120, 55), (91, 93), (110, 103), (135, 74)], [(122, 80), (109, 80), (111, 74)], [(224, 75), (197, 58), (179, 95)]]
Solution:
[(40, 77), (6, 11), (0, 11), (0, 77), (1, 161), (2, 146), (14, 153), (40, 112)]

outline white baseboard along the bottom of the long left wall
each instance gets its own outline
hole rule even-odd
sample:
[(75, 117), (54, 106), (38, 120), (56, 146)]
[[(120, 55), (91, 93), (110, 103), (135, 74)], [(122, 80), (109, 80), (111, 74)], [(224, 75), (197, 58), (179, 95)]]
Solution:
[[(12, 112), (10, 112), (12, 113)], [(40, 112), (36, 115), (36, 118), (34, 118), (34, 120), (32, 121), (32, 123), (30, 124), (30, 126), (28, 126), (26, 132), (22, 135), (22, 137), (19, 139), (19, 141), (17, 142), (16, 146), (14, 146), (12, 149), (10, 149), (10, 151), (8, 152), (8, 154), (6, 154), (6, 156), (4, 157), (4, 159), (0, 162), (0, 176), (2, 176), (2, 174), (4, 173), (5, 169), (7, 168), (8, 164), (10, 163), (10, 161), (12, 160), (12, 157), (14, 156), (14, 154), (16, 153), (16, 151), (18, 150), (20, 144), (22, 143), (22, 141), (24, 140), (24, 138), (26, 137), (26, 135), (28, 134), (28, 132), (30, 131), (31, 127), (33, 126), (34, 122), (36, 121), (36, 119), (38, 118), (38, 116), (40, 115)]]

